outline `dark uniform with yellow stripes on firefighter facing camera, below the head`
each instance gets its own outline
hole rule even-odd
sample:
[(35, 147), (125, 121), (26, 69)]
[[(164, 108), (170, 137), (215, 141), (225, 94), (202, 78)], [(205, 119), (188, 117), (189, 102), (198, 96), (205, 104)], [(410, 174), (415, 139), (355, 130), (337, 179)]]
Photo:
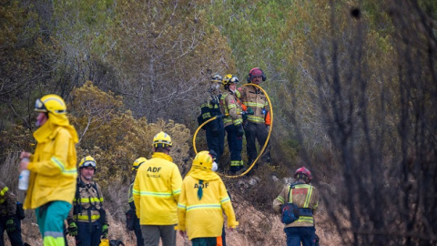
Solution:
[[(103, 209), (103, 196), (95, 181), (84, 183), (77, 178), (73, 209), (67, 220), (77, 225), (76, 245), (95, 246), (100, 243), (102, 227), (107, 224), (107, 211)], [(70, 223), (70, 222), (68, 222)]]

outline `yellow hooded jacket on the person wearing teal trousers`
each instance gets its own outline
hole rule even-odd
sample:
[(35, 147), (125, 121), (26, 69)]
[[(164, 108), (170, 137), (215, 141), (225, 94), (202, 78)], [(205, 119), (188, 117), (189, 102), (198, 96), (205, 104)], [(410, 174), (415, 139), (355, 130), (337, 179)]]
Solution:
[(46, 124), (34, 133), (37, 145), (27, 166), (30, 178), (25, 209), (36, 209), (53, 200), (71, 204), (75, 197), (77, 133), (66, 118), (57, 121), (65, 126), (54, 124), (55, 120), (56, 116), (50, 114)]

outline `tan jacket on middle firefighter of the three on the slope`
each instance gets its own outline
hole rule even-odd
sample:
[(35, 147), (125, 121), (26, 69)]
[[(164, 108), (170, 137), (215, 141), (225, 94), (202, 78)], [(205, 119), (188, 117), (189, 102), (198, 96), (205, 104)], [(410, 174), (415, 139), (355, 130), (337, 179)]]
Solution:
[(228, 127), (232, 124), (235, 126), (243, 123), (241, 117), (241, 105), (239, 105), (238, 94), (234, 94), (230, 91), (226, 91), (220, 97), (220, 109), (223, 114), (229, 114), (229, 116), (223, 118), (223, 124)]

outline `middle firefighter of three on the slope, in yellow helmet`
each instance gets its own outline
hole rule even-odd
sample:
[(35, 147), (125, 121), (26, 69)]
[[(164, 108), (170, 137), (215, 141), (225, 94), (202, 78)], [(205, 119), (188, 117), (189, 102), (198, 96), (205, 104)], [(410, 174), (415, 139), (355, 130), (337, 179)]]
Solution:
[(241, 112), (243, 111), (239, 104), (237, 92), (237, 83), (239, 78), (227, 75), (223, 78), (222, 84), (225, 92), (220, 97), (220, 108), (223, 114), (229, 114), (223, 118), (225, 130), (228, 133), (228, 146), (230, 151), (230, 168), (231, 174), (237, 173), (243, 169), (243, 161), (241, 160), (241, 150), (243, 149), (244, 129), (242, 126), (243, 119)]

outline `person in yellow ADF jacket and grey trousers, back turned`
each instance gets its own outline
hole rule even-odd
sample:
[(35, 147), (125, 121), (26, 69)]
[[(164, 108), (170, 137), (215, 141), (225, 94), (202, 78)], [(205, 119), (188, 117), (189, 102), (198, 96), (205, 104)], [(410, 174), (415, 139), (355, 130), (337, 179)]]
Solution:
[(155, 135), (152, 159), (139, 167), (134, 181), (132, 192), (146, 246), (158, 246), (159, 238), (163, 246), (176, 246), (176, 210), (182, 177), (168, 155), (172, 145), (167, 133)]

